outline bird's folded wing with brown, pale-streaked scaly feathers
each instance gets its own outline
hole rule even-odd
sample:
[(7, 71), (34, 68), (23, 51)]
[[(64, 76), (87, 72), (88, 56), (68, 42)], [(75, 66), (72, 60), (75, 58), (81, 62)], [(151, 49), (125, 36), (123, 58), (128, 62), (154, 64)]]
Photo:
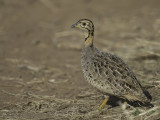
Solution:
[(140, 82), (121, 58), (108, 53), (101, 54), (94, 57), (99, 79), (108, 82), (115, 95), (142, 94)]

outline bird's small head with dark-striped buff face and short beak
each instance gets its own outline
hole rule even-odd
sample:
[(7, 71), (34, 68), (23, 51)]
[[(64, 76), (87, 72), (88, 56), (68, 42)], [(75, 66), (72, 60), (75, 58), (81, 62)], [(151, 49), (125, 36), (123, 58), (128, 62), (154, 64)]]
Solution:
[(75, 24), (72, 25), (72, 28), (78, 28), (84, 32), (93, 32), (94, 31), (94, 25), (93, 22), (89, 19), (81, 19)]

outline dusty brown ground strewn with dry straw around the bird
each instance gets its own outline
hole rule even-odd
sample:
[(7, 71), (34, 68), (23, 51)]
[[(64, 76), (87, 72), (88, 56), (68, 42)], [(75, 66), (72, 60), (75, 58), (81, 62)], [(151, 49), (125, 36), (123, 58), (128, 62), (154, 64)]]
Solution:
[[(160, 119), (159, 0), (0, 0), (0, 119)], [(70, 26), (95, 23), (95, 44), (117, 54), (153, 97), (153, 108), (105, 106), (84, 80), (83, 36)]]

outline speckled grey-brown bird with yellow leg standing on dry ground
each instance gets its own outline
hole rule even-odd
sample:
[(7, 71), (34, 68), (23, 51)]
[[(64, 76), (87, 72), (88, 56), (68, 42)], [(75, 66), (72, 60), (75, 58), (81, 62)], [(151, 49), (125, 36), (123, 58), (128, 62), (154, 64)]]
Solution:
[(94, 24), (91, 20), (80, 19), (72, 28), (80, 29), (85, 35), (81, 52), (84, 78), (91, 86), (108, 96), (99, 109), (106, 105), (111, 96), (131, 102), (151, 102), (150, 93), (142, 87), (136, 75), (120, 57), (95, 47)]

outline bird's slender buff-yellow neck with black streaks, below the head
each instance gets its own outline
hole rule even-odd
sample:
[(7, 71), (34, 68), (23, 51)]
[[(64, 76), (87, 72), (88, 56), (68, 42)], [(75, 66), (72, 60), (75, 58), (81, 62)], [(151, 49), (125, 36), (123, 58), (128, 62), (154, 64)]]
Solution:
[(88, 30), (85, 33), (84, 47), (93, 46), (94, 31)]

